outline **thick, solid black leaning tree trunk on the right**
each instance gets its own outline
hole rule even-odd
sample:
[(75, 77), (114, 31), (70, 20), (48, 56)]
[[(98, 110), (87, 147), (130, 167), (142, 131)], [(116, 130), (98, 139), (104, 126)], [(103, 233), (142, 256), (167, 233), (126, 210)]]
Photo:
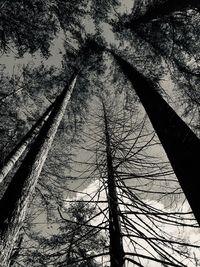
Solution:
[(200, 225), (200, 140), (157, 92), (154, 84), (112, 53), (131, 81)]

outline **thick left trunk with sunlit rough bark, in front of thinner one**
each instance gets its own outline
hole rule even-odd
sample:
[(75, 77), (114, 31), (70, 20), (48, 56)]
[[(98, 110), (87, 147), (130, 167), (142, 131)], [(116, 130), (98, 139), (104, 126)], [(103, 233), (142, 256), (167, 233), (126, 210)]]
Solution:
[(42, 126), (35, 142), (14, 175), (3, 198), (0, 200), (0, 262), (7, 267), (9, 257), (25, 218), (32, 193), (51, 148), (54, 136), (64, 115), (75, 86), (77, 74), (55, 101), (53, 110)]

